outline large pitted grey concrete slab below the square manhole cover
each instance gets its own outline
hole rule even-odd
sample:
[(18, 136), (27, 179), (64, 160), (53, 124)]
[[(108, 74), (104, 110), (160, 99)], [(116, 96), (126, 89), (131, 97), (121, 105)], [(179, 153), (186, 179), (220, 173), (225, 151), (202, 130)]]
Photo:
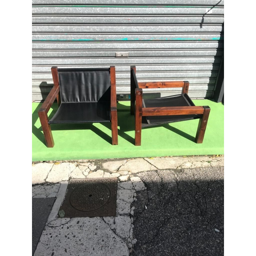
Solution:
[[(60, 220), (59, 225), (58, 221)], [(100, 217), (72, 218), (46, 226), (34, 256), (128, 256), (129, 249)]]

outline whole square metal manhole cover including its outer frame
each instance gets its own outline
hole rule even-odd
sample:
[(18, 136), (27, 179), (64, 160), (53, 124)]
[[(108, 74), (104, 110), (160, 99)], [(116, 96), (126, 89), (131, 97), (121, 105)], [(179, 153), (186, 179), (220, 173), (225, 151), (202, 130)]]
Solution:
[(116, 216), (117, 178), (71, 179), (59, 216)]

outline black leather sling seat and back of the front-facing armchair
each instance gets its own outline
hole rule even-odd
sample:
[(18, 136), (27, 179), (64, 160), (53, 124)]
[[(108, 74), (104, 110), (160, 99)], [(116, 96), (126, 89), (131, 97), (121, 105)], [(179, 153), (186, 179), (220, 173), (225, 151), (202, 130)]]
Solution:
[(49, 124), (110, 122), (109, 68), (59, 68), (61, 104)]

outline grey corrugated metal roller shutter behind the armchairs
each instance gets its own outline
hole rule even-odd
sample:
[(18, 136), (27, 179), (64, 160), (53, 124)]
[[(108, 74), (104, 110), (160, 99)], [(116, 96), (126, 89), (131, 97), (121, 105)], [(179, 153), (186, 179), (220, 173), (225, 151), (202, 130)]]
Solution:
[[(136, 65), (139, 82), (188, 80), (190, 97), (212, 97), (224, 48), (223, 0), (32, 3), (33, 100), (52, 88), (52, 66), (110, 65), (116, 66), (117, 94), (130, 92), (130, 66)], [(155, 90), (163, 96), (180, 92)]]

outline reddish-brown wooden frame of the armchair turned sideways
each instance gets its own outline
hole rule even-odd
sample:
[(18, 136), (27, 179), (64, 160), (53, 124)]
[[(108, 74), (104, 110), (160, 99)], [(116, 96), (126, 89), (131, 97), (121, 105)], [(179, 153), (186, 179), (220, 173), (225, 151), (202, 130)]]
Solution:
[[(134, 73), (133, 73), (134, 72)], [(132, 76), (135, 75), (135, 83)], [(142, 116), (172, 116), (172, 115), (201, 115), (196, 132), (196, 143), (203, 143), (204, 133), (210, 114), (209, 106), (185, 106), (185, 107), (142, 107), (142, 89), (147, 88), (172, 88), (183, 87), (182, 93), (188, 93), (188, 81), (175, 82), (142, 82), (136, 79), (136, 67), (131, 66), (131, 115), (135, 115), (135, 146), (141, 145)]]

